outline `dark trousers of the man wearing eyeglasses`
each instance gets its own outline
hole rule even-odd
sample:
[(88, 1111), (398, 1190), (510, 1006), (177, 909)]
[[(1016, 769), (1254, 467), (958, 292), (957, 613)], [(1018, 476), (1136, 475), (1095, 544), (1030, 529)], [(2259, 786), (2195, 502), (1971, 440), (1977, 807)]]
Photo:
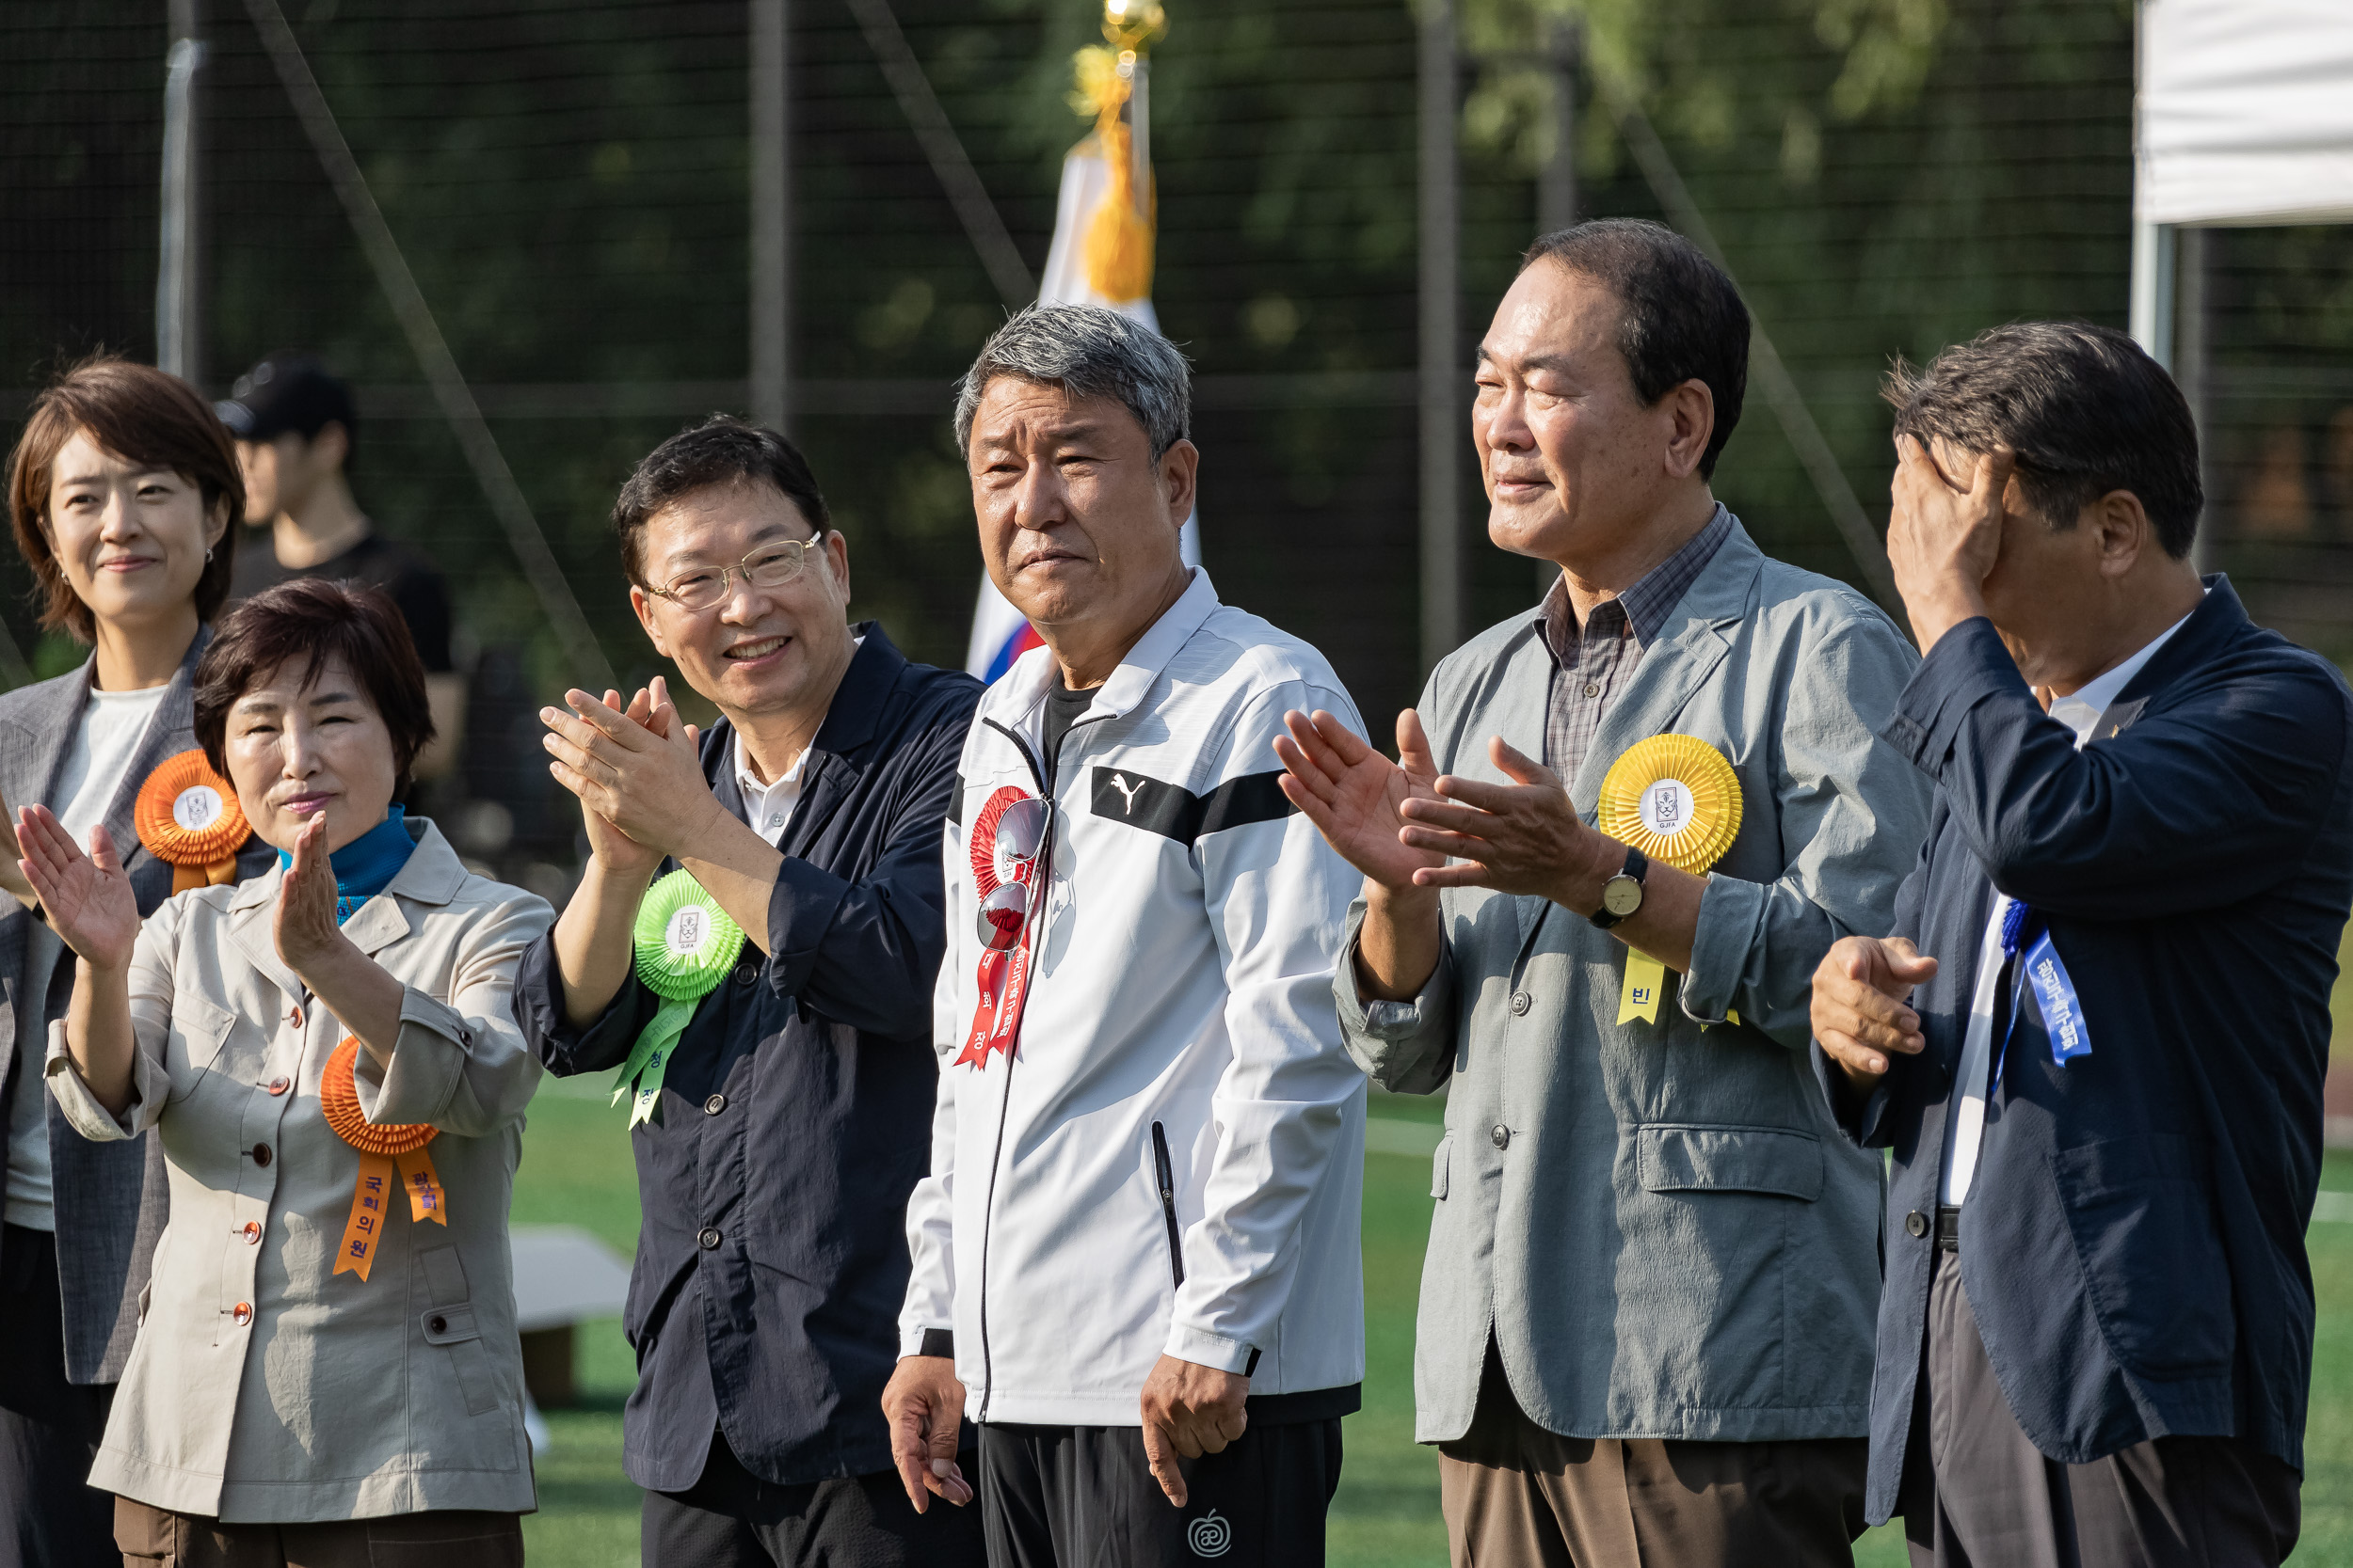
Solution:
[[(976, 1455), (958, 1455), (965, 1474)], [(981, 1568), (981, 1507), (932, 1497), (922, 1514), (896, 1469), (776, 1486), (711, 1434), (701, 1479), (647, 1493), (645, 1568)]]

